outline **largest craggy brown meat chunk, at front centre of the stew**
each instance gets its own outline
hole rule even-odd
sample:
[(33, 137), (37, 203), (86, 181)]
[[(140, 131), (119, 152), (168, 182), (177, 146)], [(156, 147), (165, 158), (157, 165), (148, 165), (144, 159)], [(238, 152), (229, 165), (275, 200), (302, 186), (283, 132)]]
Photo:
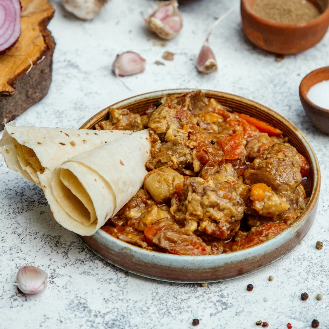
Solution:
[(230, 184), (201, 178), (191, 179), (179, 200), (171, 200), (171, 212), (178, 222), (194, 221), (198, 230), (220, 239), (229, 239), (239, 229), (244, 203)]

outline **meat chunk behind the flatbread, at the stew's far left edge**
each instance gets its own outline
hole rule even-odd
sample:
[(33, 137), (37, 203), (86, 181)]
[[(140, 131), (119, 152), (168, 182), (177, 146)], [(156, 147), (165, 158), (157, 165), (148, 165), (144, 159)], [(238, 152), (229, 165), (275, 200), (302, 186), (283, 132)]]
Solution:
[(139, 114), (126, 109), (109, 109), (109, 119), (95, 124), (97, 130), (142, 130)]

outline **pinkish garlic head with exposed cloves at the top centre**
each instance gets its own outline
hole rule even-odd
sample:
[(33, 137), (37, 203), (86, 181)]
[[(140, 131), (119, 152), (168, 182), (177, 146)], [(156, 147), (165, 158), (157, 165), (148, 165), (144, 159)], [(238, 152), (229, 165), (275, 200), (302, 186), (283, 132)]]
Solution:
[(183, 27), (182, 15), (177, 7), (177, 0), (158, 1), (155, 8), (143, 12), (149, 30), (166, 40), (175, 38)]

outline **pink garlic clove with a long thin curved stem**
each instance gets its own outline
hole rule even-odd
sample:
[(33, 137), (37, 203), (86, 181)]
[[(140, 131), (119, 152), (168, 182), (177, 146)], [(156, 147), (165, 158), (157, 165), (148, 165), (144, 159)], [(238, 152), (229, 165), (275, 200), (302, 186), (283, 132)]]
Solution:
[(196, 60), (196, 68), (198, 69), (198, 71), (200, 73), (211, 73), (217, 70), (217, 62), (216, 62), (216, 58), (215, 55), (212, 51), (212, 49), (209, 46), (209, 38), (211, 33), (214, 30), (214, 27), (222, 20), (224, 19), (226, 16), (228, 16), (231, 12), (233, 11), (233, 9), (229, 10), (227, 13), (225, 13), (223, 16), (219, 17), (215, 23), (213, 24), (213, 26), (211, 27), (208, 36), (205, 40), (205, 42), (202, 45), (201, 51), (199, 53), (199, 56)]

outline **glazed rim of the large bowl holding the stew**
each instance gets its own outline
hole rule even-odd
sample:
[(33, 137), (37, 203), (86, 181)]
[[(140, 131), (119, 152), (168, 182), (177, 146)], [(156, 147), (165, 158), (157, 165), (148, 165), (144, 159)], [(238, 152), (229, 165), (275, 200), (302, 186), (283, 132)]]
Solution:
[[(89, 127), (92, 127), (96, 122), (98, 122), (99, 117), (104, 116), (104, 114), (106, 114), (108, 112), (108, 109), (110, 107), (120, 108), (120, 107), (126, 106), (128, 103), (133, 104), (134, 102), (139, 101), (141, 99), (147, 99), (147, 98), (156, 97), (156, 96), (161, 98), (162, 96), (168, 95), (168, 94), (188, 93), (188, 92), (191, 92), (194, 90), (198, 90), (198, 89), (164, 89), (164, 90), (157, 90), (157, 91), (153, 91), (153, 92), (147, 92), (147, 93), (139, 94), (136, 96), (128, 97), (128, 98), (126, 98), (122, 101), (116, 102), (116, 103), (108, 106), (104, 110), (96, 113), (91, 118), (89, 118), (89, 120), (87, 120), (80, 127), (80, 129), (90, 129)], [(273, 116), (276, 116), (278, 119), (280, 119), (281, 122), (283, 122), (286, 126), (288, 126), (290, 128), (290, 130), (295, 130), (298, 139), (301, 140), (301, 142), (304, 144), (305, 148), (307, 149), (307, 151), (309, 153), (309, 156), (311, 159), (311, 166), (314, 170), (314, 183), (313, 183), (312, 193), (310, 196), (310, 200), (309, 200), (306, 208), (303, 210), (302, 214), (291, 226), (289, 226), (283, 232), (281, 232), (280, 234), (278, 234), (277, 236), (275, 236), (274, 238), (272, 238), (268, 241), (259, 243), (255, 246), (252, 246), (252, 247), (249, 247), (249, 248), (246, 248), (243, 250), (233, 251), (230, 253), (219, 254), (219, 255), (181, 256), (181, 255), (161, 253), (161, 252), (157, 252), (157, 251), (153, 251), (153, 250), (146, 250), (141, 247), (134, 246), (128, 242), (124, 242), (122, 240), (114, 238), (110, 234), (103, 231), (102, 229), (99, 229), (98, 231), (96, 231), (95, 234), (99, 234), (102, 238), (113, 241), (120, 248), (122, 248), (122, 250), (124, 250), (124, 249), (134, 250), (136, 253), (140, 254), (141, 257), (143, 257), (143, 256), (147, 257), (147, 256), (153, 255), (157, 259), (165, 260), (168, 262), (170, 262), (170, 260), (186, 259), (186, 260), (190, 260), (194, 264), (194, 263), (202, 263), (202, 262), (206, 261), (206, 259), (216, 260), (216, 259), (220, 258), (223, 261), (225, 261), (225, 260), (230, 261), (231, 258), (240, 258), (240, 259), (247, 258), (248, 255), (250, 255), (251, 253), (261, 254), (262, 250), (266, 246), (268, 246), (268, 248), (269, 248), (270, 245), (276, 244), (277, 240), (279, 240), (279, 239), (281, 239), (281, 240), (285, 240), (286, 238), (288, 239), (288, 236), (292, 233), (292, 231), (296, 230), (300, 224), (302, 224), (304, 221), (306, 221), (308, 219), (313, 208), (317, 206), (317, 200), (318, 200), (318, 196), (319, 196), (319, 192), (320, 192), (320, 185), (321, 185), (321, 173), (320, 173), (320, 166), (319, 166), (315, 151), (314, 151), (312, 145), (310, 144), (310, 142), (303, 135), (303, 133), (293, 123), (291, 123), (288, 119), (286, 119), (284, 116), (282, 116), (281, 114), (275, 112), (274, 110), (272, 110), (258, 102), (255, 102), (253, 100), (250, 100), (248, 98), (238, 96), (235, 94), (230, 94), (230, 93), (225, 93), (225, 92), (220, 92), (220, 91), (210, 90), (210, 89), (201, 89), (201, 90), (203, 92), (205, 92), (206, 94), (208, 94), (207, 95), (208, 97), (211, 97), (209, 95), (220, 95), (220, 96), (224, 96), (229, 99), (232, 99), (232, 100), (238, 100), (243, 103), (253, 104), (256, 107), (261, 108), (264, 112), (269, 113)], [(78, 235), (78, 237), (79, 237), (79, 235)], [(293, 248), (291, 248), (291, 249), (293, 249)], [(257, 269), (255, 269), (255, 270), (257, 270)], [(145, 276), (145, 275), (143, 275), (143, 276)]]

